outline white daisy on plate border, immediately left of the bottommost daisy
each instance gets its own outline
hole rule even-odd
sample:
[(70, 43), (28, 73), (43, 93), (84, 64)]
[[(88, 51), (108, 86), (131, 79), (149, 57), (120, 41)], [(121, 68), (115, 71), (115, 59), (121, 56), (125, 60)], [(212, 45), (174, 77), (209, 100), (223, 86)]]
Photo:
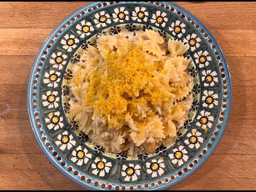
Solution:
[(110, 167), (112, 166), (111, 162), (107, 162), (105, 158), (100, 159), (99, 157), (97, 157), (95, 158), (94, 162), (95, 163), (92, 163), (92, 168), (94, 169), (92, 173), (98, 175), (98, 173), (100, 172), (100, 177), (104, 177), (105, 174), (109, 172)]

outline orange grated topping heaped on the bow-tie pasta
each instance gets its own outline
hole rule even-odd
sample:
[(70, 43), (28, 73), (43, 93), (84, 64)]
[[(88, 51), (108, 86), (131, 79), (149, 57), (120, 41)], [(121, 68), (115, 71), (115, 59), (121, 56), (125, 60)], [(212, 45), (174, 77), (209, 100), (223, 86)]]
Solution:
[[(121, 129), (127, 118), (133, 118), (135, 125), (143, 129), (157, 113), (152, 110), (154, 105), (170, 105), (172, 89), (158, 75), (164, 63), (150, 61), (146, 54), (129, 42), (129, 46), (116, 52), (106, 52), (103, 58), (108, 65), (100, 62), (100, 67), (91, 74), (84, 90), (83, 107), (93, 106), (95, 116), (100, 114), (108, 120), (108, 129)], [(137, 106), (149, 109), (147, 117), (138, 113)]]

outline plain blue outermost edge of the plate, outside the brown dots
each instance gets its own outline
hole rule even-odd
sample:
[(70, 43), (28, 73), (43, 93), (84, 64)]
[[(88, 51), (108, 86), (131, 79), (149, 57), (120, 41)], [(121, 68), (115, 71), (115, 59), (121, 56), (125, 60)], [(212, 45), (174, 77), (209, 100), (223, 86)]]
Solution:
[[(94, 189), (99, 189), (98, 187), (92, 187), (90, 185), (87, 185), (86, 182), (83, 182), (81, 180), (77, 180), (75, 179), (74, 177), (71, 177), (70, 174), (67, 174), (67, 172), (65, 170), (63, 170), (61, 168), (61, 166), (54, 160), (54, 158), (52, 158), (50, 155), (49, 155), (49, 151), (47, 151), (47, 149), (45, 148), (45, 146), (43, 145), (41, 139), (39, 139), (39, 136), (38, 134), (36, 133), (36, 128), (34, 127), (34, 124), (33, 124), (33, 112), (31, 111), (31, 100), (30, 100), (30, 91), (31, 91), (31, 88), (32, 88), (32, 75), (33, 75), (33, 71), (34, 69), (36, 68), (36, 63), (39, 59), (39, 57), (41, 56), (42, 54), (42, 51), (43, 51), (43, 47), (46, 45), (46, 42), (49, 41), (50, 37), (53, 36), (54, 33), (57, 32), (57, 30), (65, 23), (67, 22), (68, 20), (70, 20), (70, 18), (72, 17), (72, 15), (75, 15), (77, 14), (78, 12), (81, 12), (82, 10), (84, 10), (86, 7), (92, 7), (93, 5), (97, 5), (98, 3), (103, 3), (103, 2), (91, 2), (89, 4), (86, 4), (84, 6), (82, 6), (80, 9), (74, 11), (73, 13), (69, 14), (65, 19), (63, 19), (59, 25), (57, 27), (55, 27), (52, 32), (50, 33), (49, 36), (47, 36), (47, 38), (45, 39), (43, 45), (41, 46), (41, 48), (39, 49), (37, 55), (36, 55), (36, 58), (33, 62), (33, 67), (31, 68), (31, 71), (30, 71), (30, 75), (29, 75), (29, 81), (28, 81), (28, 89), (27, 89), (27, 110), (28, 110), (28, 115), (29, 115), (29, 121), (30, 121), (30, 124), (31, 124), (31, 128), (33, 130), (33, 133), (35, 135), (35, 138), (36, 138), (36, 141), (38, 143), (38, 145), (40, 146), (41, 150), (43, 151), (44, 155), (49, 159), (49, 161), (54, 165), (54, 167), (57, 168), (57, 170), (59, 170), (63, 175), (65, 175), (67, 178), (69, 178), (70, 180), (74, 181), (75, 183), (77, 183), (78, 185), (82, 186), (82, 187), (85, 187), (87, 189), (90, 189), (90, 190), (94, 190)], [(121, 3), (121, 2), (120, 2)], [(127, 3), (127, 2), (124, 2), (124, 3)], [(185, 180), (186, 178), (190, 177), (190, 175), (194, 174), (206, 161), (207, 159), (209, 159), (209, 157), (212, 155), (212, 153), (214, 152), (214, 150), (217, 148), (217, 146), (219, 145), (219, 142), (221, 141), (221, 138), (223, 136), (223, 134), (225, 133), (225, 130), (227, 128), (227, 124), (228, 124), (228, 120), (229, 120), (229, 116), (230, 116), (230, 111), (231, 111), (231, 103), (232, 103), (232, 97), (233, 97), (233, 90), (232, 90), (232, 84), (231, 84), (231, 77), (230, 77), (230, 71), (229, 71), (229, 67), (228, 67), (228, 64), (227, 64), (227, 60), (226, 60), (226, 57), (225, 55), (223, 54), (223, 51), (221, 50), (221, 47), (219, 46), (219, 43), (217, 42), (217, 39), (213, 36), (213, 34), (211, 33), (211, 31), (209, 29), (207, 29), (207, 27), (199, 20), (195, 17), (194, 14), (190, 13), (189, 11), (183, 9), (181, 6), (177, 5), (177, 4), (174, 4), (172, 2), (159, 2), (160, 4), (164, 3), (166, 5), (171, 5), (173, 6), (175, 9), (179, 9), (180, 11), (182, 12), (185, 12), (186, 15), (189, 15), (189, 17), (191, 19), (193, 19), (194, 21), (196, 21), (202, 29), (204, 29), (204, 31), (212, 37), (212, 41), (213, 41), (213, 44), (216, 45), (216, 49), (219, 49), (220, 52), (219, 54), (221, 55), (221, 58), (223, 60), (223, 68), (225, 68), (225, 71), (226, 71), (226, 74), (227, 74), (227, 82), (228, 82), (228, 98), (227, 98), (227, 103), (228, 103), (228, 106), (227, 106), (227, 114), (226, 114), (226, 118), (223, 119), (223, 126), (221, 128), (221, 130), (219, 130), (219, 135), (217, 137), (217, 139), (215, 139), (214, 141), (214, 145), (207, 150), (207, 153), (204, 154), (203, 158), (198, 162), (197, 166), (194, 167), (191, 171), (189, 171), (187, 174), (185, 175), (182, 175), (181, 177), (179, 177), (178, 179), (175, 179), (173, 182), (171, 183), (167, 183), (166, 185), (162, 185), (162, 186), (159, 186), (159, 187), (154, 187), (154, 188), (151, 188), (151, 186), (149, 186), (146, 190), (163, 190), (163, 189), (166, 189), (166, 188), (170, 188), (170, 187), (173, 187), (175, 185), (177, 185), (178, 183), (180, 183), (181, 181)], [(144, 183), (141, 183), (141, 184), (144, 184)], [(118, 185), (118, 184), (117, 184)]]

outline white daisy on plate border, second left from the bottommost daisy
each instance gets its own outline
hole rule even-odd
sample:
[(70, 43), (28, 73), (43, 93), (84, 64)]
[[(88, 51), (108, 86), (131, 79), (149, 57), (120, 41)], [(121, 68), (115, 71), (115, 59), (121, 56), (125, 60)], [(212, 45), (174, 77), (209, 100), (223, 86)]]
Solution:
[(92, 158), (92, 154), (88, 153), (88, 150), (84, 148), (82, 150), (81, 146), (78, 146), (73, 152), (73, 157), (71, 158), (71, 161), (76, 163), (79, 166), (82, 166), (83, 163), (86, 164), (89, 161), (89, 158)]

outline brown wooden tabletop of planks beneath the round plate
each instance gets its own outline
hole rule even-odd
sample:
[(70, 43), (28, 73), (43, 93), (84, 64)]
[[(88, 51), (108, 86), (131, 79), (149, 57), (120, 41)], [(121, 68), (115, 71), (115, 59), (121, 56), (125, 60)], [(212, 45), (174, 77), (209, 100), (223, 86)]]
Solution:
[[(0, 3), (0, 189), (84, 189), (55, 169), (37, 145), (26, 93), (31, 66), (45, 38), (86, 3)], [(256, 189), (256, 2), (177, 4), (217, 38), (230, 68), (233, 105), (213, 155), (170, 190)]]

